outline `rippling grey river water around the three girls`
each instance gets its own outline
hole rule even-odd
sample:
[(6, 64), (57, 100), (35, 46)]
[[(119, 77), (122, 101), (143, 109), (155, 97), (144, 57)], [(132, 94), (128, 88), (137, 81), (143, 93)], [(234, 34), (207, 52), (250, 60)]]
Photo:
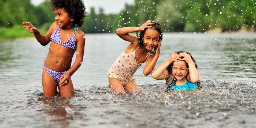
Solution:
[(41, 77), (49, 45), (0, 42), (0, 127), (256, 127), (255, 33), (165, 33), (156, 66), (172, 52), (190, 52), (202, 90), (188, 92), (166, 92), (165, 81), (144, 76), (142, 65), (135, 73), (140, 92), (113, 94), (107, 71), (127, 44), (115, 34), (87, 34), (84, 62), (71, 77), (75, 97), (46, 99)]

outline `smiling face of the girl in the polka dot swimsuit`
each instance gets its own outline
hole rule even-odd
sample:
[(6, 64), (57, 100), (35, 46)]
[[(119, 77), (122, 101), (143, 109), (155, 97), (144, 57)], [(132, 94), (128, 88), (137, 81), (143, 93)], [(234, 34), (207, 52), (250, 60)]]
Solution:
[(157, 30), (148, 28), (143, 36), (143, 43), (147, 50), (152, 50), (158, 45), (160, 34)]

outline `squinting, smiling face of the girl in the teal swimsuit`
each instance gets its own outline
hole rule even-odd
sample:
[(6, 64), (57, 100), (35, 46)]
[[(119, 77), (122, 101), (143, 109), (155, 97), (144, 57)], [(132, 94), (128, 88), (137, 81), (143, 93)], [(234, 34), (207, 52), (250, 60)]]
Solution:
[(184, 80), (188, 74), (188, 68), (185, 61), (174, 61), (172, 66), (172, 75), (177, 80)]

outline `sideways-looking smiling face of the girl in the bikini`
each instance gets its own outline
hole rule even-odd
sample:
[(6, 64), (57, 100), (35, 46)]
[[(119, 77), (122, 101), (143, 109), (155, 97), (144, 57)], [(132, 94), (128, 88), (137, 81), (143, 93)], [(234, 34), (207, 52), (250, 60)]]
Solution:
[(70, 18), (68, 12), (64, 8), (55, 10), (55, 20), (60, 28), (68, 26), (70, 23), (73, 24), (74, 19)]

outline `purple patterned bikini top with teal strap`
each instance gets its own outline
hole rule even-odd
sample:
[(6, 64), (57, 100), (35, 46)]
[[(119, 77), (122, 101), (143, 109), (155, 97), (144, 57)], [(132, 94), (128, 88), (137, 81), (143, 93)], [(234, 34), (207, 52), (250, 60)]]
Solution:
[(51, 40), (52, 42), (56, 43), (56, 44), (60, 44), (66, 48), (71, 48), (76, 50), (76, 42), (75, 42), (75, 36), (76, 36), (76, 26), (74, 27), (74, 32), (73, 35), (70, 37), (69, 40), (67, 40), (66, 42), (61, 42), (60, 40), (60, 27), (58, 27), (51, 35)]

